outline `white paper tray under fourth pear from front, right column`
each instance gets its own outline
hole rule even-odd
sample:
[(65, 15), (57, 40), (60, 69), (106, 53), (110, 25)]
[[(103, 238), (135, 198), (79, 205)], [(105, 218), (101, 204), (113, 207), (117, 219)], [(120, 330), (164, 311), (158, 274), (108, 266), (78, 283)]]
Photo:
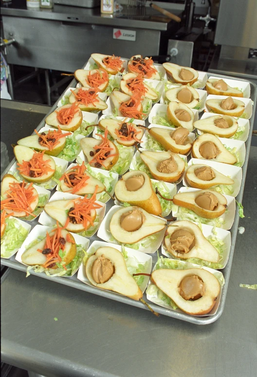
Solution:
[[(229, 176), (231, 179), (234, 179), (235, 183), (233, 185), (234, 192), (231, 194), (231, 196), (236, 197), (239, 193), (239, 189), (241, 187), (241, 182), (242, 182), (242, 169), (239, 168), (238, 166), (234, 165), (228, 165), (228, 164), (222, 164), (221, 162), (215, 162), (215, 161), (209, 161), (209, 160), (201, 160), (198, 158), (191, 158), (191, 160), (188, 162), (188, 168), (191, 165), (197, 165), (197, 164), (203, 164), (207, 165), (217, 171), (219, 171), (221, 174), (226, 175), (227, 177)], [(186, 169), (187, 170), (187, 169)], [(185, 170), (185, 174), (186, 174)], [(183, 185), (185, 187), (190, 187), (190, 185), (187, 183), (186, 177), (183, 177)], [(226, 186), (226, 185), (222, 185)], [(215, 187), (210, 188), (215, 190)]]

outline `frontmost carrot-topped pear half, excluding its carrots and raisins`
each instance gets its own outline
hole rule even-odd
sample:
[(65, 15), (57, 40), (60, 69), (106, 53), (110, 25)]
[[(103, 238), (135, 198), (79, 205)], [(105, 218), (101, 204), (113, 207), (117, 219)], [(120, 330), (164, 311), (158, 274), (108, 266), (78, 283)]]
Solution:
[[(55, 232), (53, 231), (50, 232), (50, 237), (52, 237), (54, 233)], [(65, 240), (67, 234), (69, 234), (71, 240), (75, 241), (71, 233), (69, 233), (66, 229), (61, 229), (61, 237), (63, 237)], [(37, 251), (37, 249), (43, 250), (45, 248), (45, 245), (46, 237), (43, 240), (39, 241), (36, 245), (33, 245), (29, 247), (26, 251), (24, 251), (24, 253), (21, 255), (22, 262), (28, 265), (44, 264), (47, 261), (47, 255), (40, 253), (40, 251)], [(76, 244), (72, 244), (71, 242), (66, 241), (63, 249), (63, 252), (65, 254), (63, 257), (63, 261), (65, 262), (65, 265), (73, 261), (73, 259), (76, 256), (76, 251)], [(55, 266), (54, 268), (57, 268), (57, 266)]]

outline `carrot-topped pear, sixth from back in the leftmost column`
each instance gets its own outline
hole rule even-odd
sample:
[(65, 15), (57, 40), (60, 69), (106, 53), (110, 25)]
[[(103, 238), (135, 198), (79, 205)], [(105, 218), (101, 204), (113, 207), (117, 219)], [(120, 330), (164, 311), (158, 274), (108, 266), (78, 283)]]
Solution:
[(37, 152), (31, 148), (16, 145), (14, 154), (18, 161), (17, 170), (29, 182), (37, 184), (47, 182), (55, 174), (55, 160), (46, 155), (45, 151)]

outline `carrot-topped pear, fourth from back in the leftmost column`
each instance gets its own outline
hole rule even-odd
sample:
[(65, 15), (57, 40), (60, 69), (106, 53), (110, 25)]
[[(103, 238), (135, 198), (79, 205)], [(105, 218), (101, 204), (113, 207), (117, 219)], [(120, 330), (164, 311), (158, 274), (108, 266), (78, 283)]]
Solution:
[(61, 130), (70, 132), (76, 131), (81, 125), (82, 120), (82, 112), (75, 103), (57, 108), (45, 119), (46, 124), (49, 126), (55, 128), (59, 126)]

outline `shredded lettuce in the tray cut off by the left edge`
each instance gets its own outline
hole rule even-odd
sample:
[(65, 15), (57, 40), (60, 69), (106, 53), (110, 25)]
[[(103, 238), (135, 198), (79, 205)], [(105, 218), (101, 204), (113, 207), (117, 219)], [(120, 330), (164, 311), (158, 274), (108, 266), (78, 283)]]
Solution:
[(23, 244), (29, 231), (17, 219), (7, 218), (6, 228), (1, 238), (1, 257), (11, 257)]

